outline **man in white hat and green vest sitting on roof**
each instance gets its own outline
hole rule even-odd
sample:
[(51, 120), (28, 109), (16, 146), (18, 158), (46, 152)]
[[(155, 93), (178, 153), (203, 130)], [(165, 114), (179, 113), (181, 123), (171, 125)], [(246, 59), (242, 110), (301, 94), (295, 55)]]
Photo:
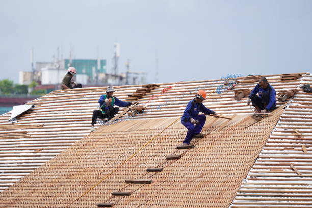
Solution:
[(113, 96), (114, 92), (114, 87), (108, 86), (106, 89), (106, 94), (103, 94), (99, 98), (98, 102), (100, 105), (100, 110), (93, 111), (91, 132), (94, 131), (94, 124), (96, 124), (97, 118), (103, 119), (103, 122), (107, 122), (118, 113), (119, 108), (114, 107), (114, 105), (119, 107), (127, 107), (132, 105), (132, 102), (123, 102), (117, 99), (117, 97)]

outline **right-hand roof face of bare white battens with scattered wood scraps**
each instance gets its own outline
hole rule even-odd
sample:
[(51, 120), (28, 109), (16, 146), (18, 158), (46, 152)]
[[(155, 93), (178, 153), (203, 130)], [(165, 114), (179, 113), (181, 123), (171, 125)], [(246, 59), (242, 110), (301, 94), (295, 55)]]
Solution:
[[(312, 76), (302, 84), (312, 85)], [(312, 93), (289, 103), (231, 207), (312, 207)]]

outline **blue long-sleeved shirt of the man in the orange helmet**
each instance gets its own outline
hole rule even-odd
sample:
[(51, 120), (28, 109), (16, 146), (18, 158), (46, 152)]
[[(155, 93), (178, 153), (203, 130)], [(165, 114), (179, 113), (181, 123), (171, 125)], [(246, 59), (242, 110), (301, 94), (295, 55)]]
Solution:
[[(194, 102), (194, 104), (193, 104)], [(208, 109), (203, 105), (203, 103), (196, 103), (195, 98), (191, 100), (187, 107), (184, 110), (183, 116), (181, 118), (182, 121), (190, 120), (190, 118), (193, 118), (199, 114), (199, 112), (205, 113), (205, 114), (215, 114), (214, 111)]]

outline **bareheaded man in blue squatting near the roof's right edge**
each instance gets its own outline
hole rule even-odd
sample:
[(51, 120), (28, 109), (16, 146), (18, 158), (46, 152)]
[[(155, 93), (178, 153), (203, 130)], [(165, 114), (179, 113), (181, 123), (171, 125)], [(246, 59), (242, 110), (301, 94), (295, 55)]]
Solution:
[[(257, 93), (259, 96), (257, 96)], [(256, 113), (269, 113), (276, 109), (276, 92), (275, 89), (268, 83), (266, 77), (262, 77), (254, 89), (251, 91), (247, 104), (256, 108)]]

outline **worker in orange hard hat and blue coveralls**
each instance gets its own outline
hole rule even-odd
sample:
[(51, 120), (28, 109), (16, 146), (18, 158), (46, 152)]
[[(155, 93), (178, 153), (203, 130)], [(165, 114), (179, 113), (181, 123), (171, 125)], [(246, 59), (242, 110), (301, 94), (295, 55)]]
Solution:
[[(188, 129), (188, 133), (183, 141), (183, 145), (190, 144), (194, 135), (197, 137), (203, 136), (200, 132), (206, 122), (206, 116), (204, 114), (214, 114), (216, 112), (206, 108), (203, 105), (203, 101), (206, 98), (207, 93), (203, 90), (198, 90), (195, 98), (191, 100), (184, 110), (181, 118), (181, 123)], [(199, 112), (204, 114), (198, 115)], [(194, 126), (194, 124), (196, 124)]]

